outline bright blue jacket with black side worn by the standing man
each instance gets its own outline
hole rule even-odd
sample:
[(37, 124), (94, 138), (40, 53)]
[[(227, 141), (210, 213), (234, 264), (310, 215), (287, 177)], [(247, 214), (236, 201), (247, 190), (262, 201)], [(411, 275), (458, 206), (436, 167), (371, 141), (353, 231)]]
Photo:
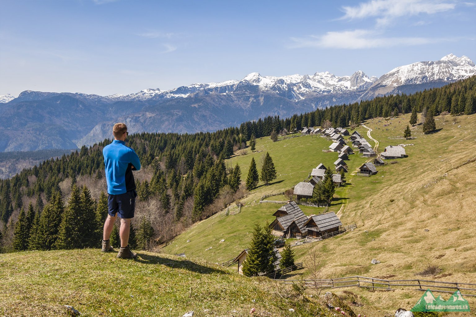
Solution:
[(124, 141), (114, 140), (102, 150), (108, 193), (119, 195), (136, 188), (131, 165), (140, 170), (139, 156)]

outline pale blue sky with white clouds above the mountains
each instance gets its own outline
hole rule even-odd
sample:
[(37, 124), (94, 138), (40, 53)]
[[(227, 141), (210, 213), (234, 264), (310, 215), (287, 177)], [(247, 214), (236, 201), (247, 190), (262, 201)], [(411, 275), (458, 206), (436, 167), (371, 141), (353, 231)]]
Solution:
[(453, 53), (476, 62), (476, 1), (0, 0), (0, 95), (130, 94), (337, 76)]

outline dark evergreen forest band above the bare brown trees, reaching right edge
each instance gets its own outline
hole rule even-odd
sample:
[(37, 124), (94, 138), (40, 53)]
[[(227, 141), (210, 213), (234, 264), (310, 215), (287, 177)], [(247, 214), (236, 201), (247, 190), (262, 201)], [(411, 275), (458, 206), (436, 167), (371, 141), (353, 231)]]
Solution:
[[(452, 115), (471, 114), (476, 110), (475, 83), (476, 77), (471, 77), (409, 96), (377, 97), (369, 101), (317, 109), (286, 119), (268, 116), (245, 122), (240, 127), (213, 133), (129, 135), (128, 145), (139, 155), (142, 165), (153, 169), (150, 182), (138, 184), (140, 198), (159, 197), (163, 207), (168, 212), (175, 212), (175, 218), (180, 219), (183, 203), (192, 197), (193, 218), (199, 220), (205, 206), (218, 197), (220, 190), (225, 187), (232, 190), (237, 188), (237, 180), (240, 180), (237, 177), (240, 174), (239, 166), (238, 170), (237, 166), (227, 169), (224, 160), (234, 150), (245, 148), (248, 140), (251, 141), (250, 146), (254, 147), (255, 138), (268, 136), (273, 131), (299, 130), (303, 126), (357, 125), (372, 117), (408, 113), (412, 110), (428, 111), (432, 115), (444, 111)], [(25, 169), (11, 179), (0, 180), (0, 222), (3, 223), (3, 232), (7, 224), (13, 225), (9, 224), (13, 211), (20, 211), (24, 207), (23, 196), (38, 197), (42, 194), (47, 204), (52, 205), (55, 199), (61, 197), (59, 183), (65, 179), (71, 179), (74, 185), (80, 175), (97, 179), (104, 177), (102, 148), (110, 142), (106, 139), (89, 148), (83, 146), (69, 155), (64, 154), (60, 158), (46, 160), (38, 166)], [(270, 173), (272, 179), (273, 173)], [(256, 180), (256, 175), (253, 177)], [(271, 179), (262, 178), (265, 183)]]

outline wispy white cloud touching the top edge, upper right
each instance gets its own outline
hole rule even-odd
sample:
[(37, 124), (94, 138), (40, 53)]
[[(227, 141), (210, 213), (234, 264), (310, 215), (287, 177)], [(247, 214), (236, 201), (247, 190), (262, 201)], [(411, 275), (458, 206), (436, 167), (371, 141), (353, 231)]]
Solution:
[(455, 9), (455, 3), (428, 0), (371, 0), (358, 6), (342, 7), (341, 19), (366, 19), (375, 17), (377, 26), (389, 24), (393, 19), (421, 13), (435, 14)]

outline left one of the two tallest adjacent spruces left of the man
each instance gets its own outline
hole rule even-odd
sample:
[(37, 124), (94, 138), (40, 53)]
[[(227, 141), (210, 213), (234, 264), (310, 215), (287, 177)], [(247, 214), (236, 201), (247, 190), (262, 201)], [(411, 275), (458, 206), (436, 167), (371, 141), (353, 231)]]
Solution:
[(79, 214), (81, 202), (79, 198), (79, 188), (73, 185), (68, 206), (61, 215), (60, 229), (58, 230), (57, 249), (76, 249), (82, 246), (81, 235), (81, 215)]

